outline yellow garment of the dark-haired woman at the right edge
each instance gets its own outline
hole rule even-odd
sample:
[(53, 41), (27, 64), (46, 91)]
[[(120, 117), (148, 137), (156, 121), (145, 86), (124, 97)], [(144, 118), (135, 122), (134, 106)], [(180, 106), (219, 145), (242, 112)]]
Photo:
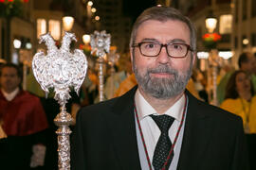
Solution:
[(250, 102), (247, 102), (247, 100), (241, 98), (228, 98), (224, 100), (220, 108), (241, 116), (243, 119), (244, 128), (246, 128), (247, 125), (248, 115), (249, 132), (247, 133), (256, 133), (256, 96), (253, 96)]

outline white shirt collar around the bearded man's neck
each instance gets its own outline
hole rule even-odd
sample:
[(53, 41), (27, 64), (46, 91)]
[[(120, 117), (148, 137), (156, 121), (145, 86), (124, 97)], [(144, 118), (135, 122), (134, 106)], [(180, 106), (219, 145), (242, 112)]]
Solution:
[[(145, 117), (149, 116), (150, 114), (158, 114), (156, 110), (146, 101), (143, 95), (137, 89), (135, 95), (135, 102), (137, 107), (137, 116), (139, 120), (144, 119)], [(164, 112), (164, 114), (170, 115), (174, 117), (175, 120), (181, 121), (182, 119), (182, 112), (185, 109), (185, 94), (183, 94), (172, 107)]]

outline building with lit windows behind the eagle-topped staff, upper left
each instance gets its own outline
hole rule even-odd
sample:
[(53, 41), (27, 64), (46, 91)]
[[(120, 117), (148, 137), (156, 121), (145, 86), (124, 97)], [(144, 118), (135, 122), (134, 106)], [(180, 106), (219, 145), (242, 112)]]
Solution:
[[(85, 33), (84, 1), (29, 0), (23, 4), (19, 16), (0, 18), (0, 58), (18, 63), (21, 62), (20, 52), (27, 51), (26, 54), (30, 55), (27, 58), (31, 59), (38, 49), (46, 49), (45, 44), (38, 43), (40, 35), (46, 32), (50, 32), (55, 41), (60, 42), (64, 35), (65, 15), (75, 18), (71, 31), (76, 34), (78, 42), (75, 45), (78, 47)], [(15, 47), (14, 40), (21, 43), (20, 46)]]

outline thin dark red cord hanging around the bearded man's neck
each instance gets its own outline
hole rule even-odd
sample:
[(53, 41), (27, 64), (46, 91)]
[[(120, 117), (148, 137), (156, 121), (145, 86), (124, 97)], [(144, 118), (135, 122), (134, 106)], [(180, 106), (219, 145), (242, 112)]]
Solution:
[[(150, 168), (150, 170), (152, 170), (152, 165), (151, 165), (151, 162), (150, 162), (150, 159), (149, 159), (148, 150), (147, 150), (147, 147), (146, 147), (146, 144), (145, 144), (145, 140), (144, 140), (144, 137), (143, 137), (142, 129), (141, 129), (141, 127), (140, 127), (140, 123), (139, 123), (138, 116), (137, 116), (137, 108), (136, 108), (136, 103), (135, 103), (135, 102), (134, 102), (134, 105), (135, 105), (134, 107), (135, 107), (136, 118), (137, 118), (137, 127), (138, 127), (138, 129), (139, 129), (140, 137), (141, 137), (141, 139), (142, 139), (142, 143), (143, 143), (143, 146), (144, 146), (144, 150), (145, 150), (145, 154), (146, 154), (146, 157), (147, 157), (147, 161), (148, 161), (149, 168)], [(174, 138), (174, 144), (172, 144), (171, 150), (170, 150), (170, 152), (169, 152), (169, 155), (168, 155), (168, 157), (167, 157), (167, 160), (164, 162), (164, 165), (163, 165), (162, 170), (165, 170), (166, 165), (167, 165), (167, 162), (169, 161), (169, 159), (171, 158), (172, 153), (174, 152), (174, 145), (176, 144), (176, 141), (177, 141), (177, 138), (178, 138), (180, 129), (181, 129), (182, 125), (183, 125), (184, 117), (185, 117), (186, 111), (187, 111), (187, 96), (185, 97), (184, 110), (183, 110), (183, 113), (182, 113), (182, 118), (181, 118), (181, 121), (180, 121), (178, 130), (177, 130), (176, 135), (175, 135), (175, 138)]]

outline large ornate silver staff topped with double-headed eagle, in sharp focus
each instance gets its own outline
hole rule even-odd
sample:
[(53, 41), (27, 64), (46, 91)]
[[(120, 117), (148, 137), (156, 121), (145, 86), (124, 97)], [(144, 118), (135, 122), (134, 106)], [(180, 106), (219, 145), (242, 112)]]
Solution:
[(60, 170), (70, 169), (69, 125), (73, 120), (66, 112), (65, 104), (71, 97), (70, 88), (73, 87), (76, 93), (79, 93), (87, 70), (87, 59), (82, 51), (76, 49), (73, 54), (70, 52), (72, 40), (76, 41), (75, 34), (65, 32), (62, 46), (58, 49), (50, 34), (44, 34), (40, 38), (40, 43), (46, 42), (47, 55), (41, 51), (36, 53), (32, 60), (33, 73), (41, 88), (46, 93), (49, 93), (49, 88), (53, 88), (54, 99), (60, 104), (61, 112), (54, 119), (54, 123), (59, 127), (56, 133)]

